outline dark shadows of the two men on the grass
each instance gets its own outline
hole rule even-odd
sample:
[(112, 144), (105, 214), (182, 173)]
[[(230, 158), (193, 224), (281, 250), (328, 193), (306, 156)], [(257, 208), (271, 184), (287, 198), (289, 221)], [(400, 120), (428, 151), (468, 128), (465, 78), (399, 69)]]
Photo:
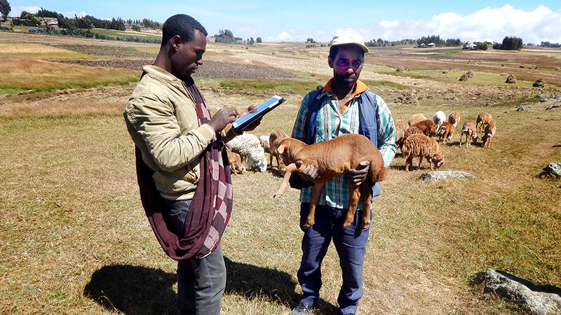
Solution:
[[(287, 272), (224, 257), (227, 269), (226, 293), (252, 299), (266, 298), (271, 302), (295, 306), (299, 294), (297, 283)], [(133, 265), (108, 265), (92, 274), (83, 295), (109, 311), (123, 314), (177, 314), (177, 293), (173, 286), (175, 273)], [(335, 314), (334, 305), (320, 300), (320, 314)]]

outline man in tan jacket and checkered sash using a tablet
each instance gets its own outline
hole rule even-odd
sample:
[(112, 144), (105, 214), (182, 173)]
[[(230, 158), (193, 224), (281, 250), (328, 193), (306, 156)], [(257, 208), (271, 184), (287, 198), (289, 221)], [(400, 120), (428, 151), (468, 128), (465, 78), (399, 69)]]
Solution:
[(238, 134), (230, 124), (240, 115), (231, 107), (210, 116), (191, 78), (203, 64), (205, 28), (173, 15), (162, 31), (156, 61), (142, 68), (123, 115), (144, 211), (165, 253), (178, 261), (179, 312), (219, 314), (226, 286), (220, 238), (232, 205), (224, 142)]

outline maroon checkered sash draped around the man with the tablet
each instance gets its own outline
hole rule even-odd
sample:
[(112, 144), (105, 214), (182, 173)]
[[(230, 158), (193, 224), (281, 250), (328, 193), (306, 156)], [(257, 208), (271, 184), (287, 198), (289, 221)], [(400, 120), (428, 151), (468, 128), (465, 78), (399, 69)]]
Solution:
[[(194, 97), (199, 125), (210, 120), (210, 111), (205, 99), (194, 83), (187, 86)], [(175, 260), (204, 258), (217, 248), (232, 210), (232, 185), (227, 153), (222, 137), (217, 134), (202, 153), (201, 176), (193, 200), (185, 218), (185, 235), (178, 239), (165, 222), (163, 200), (156, 190), (154, 174), (142, 160), (142, 153), (136, 148), (136, 169), (140, 199), (156, 239), (163, 251)]]

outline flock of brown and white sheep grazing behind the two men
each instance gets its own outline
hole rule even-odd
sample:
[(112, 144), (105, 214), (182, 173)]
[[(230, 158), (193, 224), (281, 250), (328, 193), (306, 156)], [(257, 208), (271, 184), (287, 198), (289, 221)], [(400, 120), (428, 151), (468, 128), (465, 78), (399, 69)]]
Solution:
[[(396, 146), (400, 148), (405, 158), (405, 171), (409, 172), (414, 158), (419, 158), (419, 168), (423, 160), (427, 160), (431, 170), (440, 167), (444, 163), (444, 153), (438, 142), (445, 144), (450, 141), (459, 121), (460, 114), (457, 111), (450, 113), (448, 117), (443, 111), (437, 111), (432, 119), (416, 114), (408, 123), (405, 120), (396, 120)], [(480, 134), (483, 132), (482, 147), (489, 148), (496, 134), (496, 125), (491, 114), (482, 111), (475, 124), (471, 120), (466, 120), (461, 127), (459, 146), (463, 142), (464, 135), (467, 148), (472, 142), (477, 141), (479, 137), (476, 131)], [(438, 141), (432, 137), (438, 137)], [(271, 165), (271, 169), (273, 168), (273, 158), (276, 159), (280, 172), (284, 172), (285, 165), (282, 159), (279, 159), (277, 148), (280, 141), (285, 138), (288, 138), (288, 135), (280, 129), (273, 130), (269, 136), (259, 138), (248, 132), (235, 137), (226, 144), (232, 172), (241, 174), (245, 170), (245, 165), (249, 169), (266, 172), (267, 164)], [(265, 153), (269, 153), (269, 163)]]

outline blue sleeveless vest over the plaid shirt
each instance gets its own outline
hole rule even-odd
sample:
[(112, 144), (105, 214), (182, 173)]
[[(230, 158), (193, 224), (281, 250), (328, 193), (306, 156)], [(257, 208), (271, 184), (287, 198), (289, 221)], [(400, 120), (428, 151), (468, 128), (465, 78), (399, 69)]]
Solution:
[[(306, 126), (306, 144), (313, 144), (313, 136), (316, 134), (318, 112), (323, 104), (323, 97), (318, 97), (322, 90), (318, 89), (308, 94), (308, 111), (304, 123)], [(376, 94), (370, 91), (360, 94), (358, 98), (358, 133), (370, 139), (376, 147), (378, 147), (377, 111)], [(372, 186), (372, 201), (376, 200), (379, 195), (380, 183), (375, 183)]]

